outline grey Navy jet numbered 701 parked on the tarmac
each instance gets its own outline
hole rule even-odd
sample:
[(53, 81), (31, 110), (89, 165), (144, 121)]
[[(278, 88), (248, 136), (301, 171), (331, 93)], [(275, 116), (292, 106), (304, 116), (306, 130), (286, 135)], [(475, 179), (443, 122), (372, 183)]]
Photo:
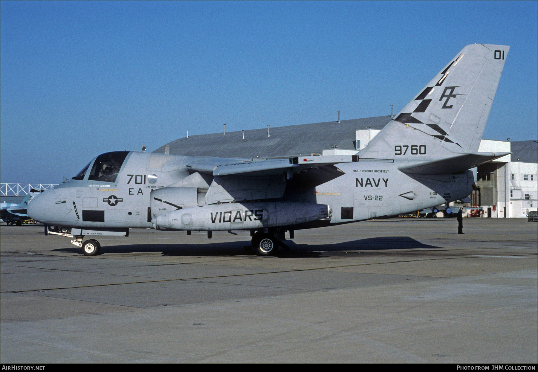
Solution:
[[(37, 195), (32, 219), (73, 237), (129, 228), (250, 230), (260, 255), (285, 232), (434, 207), (468, 196), (472, 169), (508, 153), (477, 152), (508, 46), (463, 48), (357, 155), (289, 159), (189, 157), (137, 151), (97, 156)], [(83, 241), (84, 236), (90, 236)]]

